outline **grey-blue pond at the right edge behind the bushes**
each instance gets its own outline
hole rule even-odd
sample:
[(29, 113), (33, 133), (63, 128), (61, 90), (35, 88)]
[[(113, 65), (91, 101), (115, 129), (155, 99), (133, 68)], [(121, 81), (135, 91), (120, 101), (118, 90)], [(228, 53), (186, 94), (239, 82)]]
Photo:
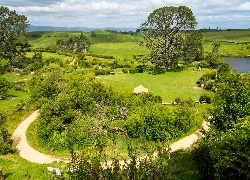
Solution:
[(224, 57), (224, 60), (237, 72), (250, 73), (250, 58)]

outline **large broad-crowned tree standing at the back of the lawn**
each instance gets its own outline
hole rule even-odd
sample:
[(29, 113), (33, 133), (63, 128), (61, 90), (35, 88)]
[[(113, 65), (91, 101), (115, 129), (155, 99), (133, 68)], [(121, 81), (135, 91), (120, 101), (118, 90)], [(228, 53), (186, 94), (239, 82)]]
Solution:
[(164, 6), (154, 10), (140, 26), (146, 46), (151, 50), (150, 61), (157, 67), (170, 69), (178, 66), (179, 59), (190, 61), (190, 55), (200, 54), (201, 43), (197, 43), (201, 41), (200, 35), (194, 36), (190, 31), (196, 24), (192, 11), (186, 6)]

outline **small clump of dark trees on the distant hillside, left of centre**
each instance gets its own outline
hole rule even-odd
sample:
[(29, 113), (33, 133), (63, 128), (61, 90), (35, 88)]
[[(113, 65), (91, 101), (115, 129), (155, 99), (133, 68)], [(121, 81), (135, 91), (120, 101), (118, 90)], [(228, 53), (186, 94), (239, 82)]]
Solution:
[(56, 42), (58, 49), (72, 53), (87, 52), (90, 46), (88, 38), (81, 33), (78, 36), (70, 36), (68, 38), (61, 38)]

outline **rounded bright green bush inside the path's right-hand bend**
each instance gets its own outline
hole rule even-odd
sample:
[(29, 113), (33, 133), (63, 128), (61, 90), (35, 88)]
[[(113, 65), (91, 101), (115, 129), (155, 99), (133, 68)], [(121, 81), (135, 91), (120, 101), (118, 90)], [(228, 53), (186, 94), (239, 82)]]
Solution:
[(132, 138), (144, 137), (148, 141), (166, 141), (186, 133), (193, 115), (193, 111), (184, 106), (171, 111), (166, 106), (147, 103), (130, 114), (124, 128)]

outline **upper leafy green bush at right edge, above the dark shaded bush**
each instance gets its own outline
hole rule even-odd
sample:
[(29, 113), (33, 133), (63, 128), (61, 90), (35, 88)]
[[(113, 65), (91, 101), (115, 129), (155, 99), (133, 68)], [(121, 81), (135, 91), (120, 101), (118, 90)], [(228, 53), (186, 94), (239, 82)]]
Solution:
[(239, 119), (250, 115), (250, 79), (235, 73), (223, 77), (215, 97), (211, 123), (216, 129), (226, 131)]

